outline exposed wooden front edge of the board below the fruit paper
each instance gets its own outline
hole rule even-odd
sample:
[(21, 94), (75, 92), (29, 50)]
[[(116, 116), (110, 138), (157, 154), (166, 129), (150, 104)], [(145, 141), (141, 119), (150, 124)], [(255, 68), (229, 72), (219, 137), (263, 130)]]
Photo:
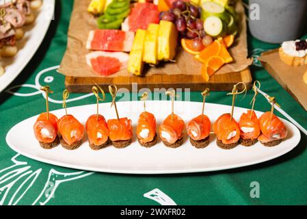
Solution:
[[(252, 88), (252, 75), (250, 68), (237, 73), (218, 74), (211, 77), (209, 82), (204, 82), (201, 75), (150, 75), (146, 77), (66, 77), (65, 86), (69, 92), (92, 92), (94, 81), (107, 91), (107, 86), (116, 84), (119, 88), (137, 92), (142, 88), (189, 88), (190, 91), (202, 91), (204, 88), (211, 90), (230, 91), (235, 83), (244, 82), (248, 89)], [(137, 83), (137, 90), (132, 84)]]

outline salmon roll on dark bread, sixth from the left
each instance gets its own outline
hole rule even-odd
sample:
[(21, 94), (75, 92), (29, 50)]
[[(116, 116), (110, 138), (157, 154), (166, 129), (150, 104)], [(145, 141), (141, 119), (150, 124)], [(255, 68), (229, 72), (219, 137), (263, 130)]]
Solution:
[(178, 148), (183, 144), (185, 122), (176, 114), (166, 117), (159, 127), (159, 136), (165, 146)]

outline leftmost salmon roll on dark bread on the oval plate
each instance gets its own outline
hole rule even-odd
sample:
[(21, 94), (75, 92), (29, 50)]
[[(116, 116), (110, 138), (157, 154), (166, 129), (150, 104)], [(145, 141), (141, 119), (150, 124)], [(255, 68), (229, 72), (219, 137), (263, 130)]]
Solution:
[(43, 149), (52, 149), (57, 146), (59, 144), (59, 136), (57, 136), (57, 116), (49, 112), (48, 119), (46, 112), (40, 114), (34, 124), (34, 134)]

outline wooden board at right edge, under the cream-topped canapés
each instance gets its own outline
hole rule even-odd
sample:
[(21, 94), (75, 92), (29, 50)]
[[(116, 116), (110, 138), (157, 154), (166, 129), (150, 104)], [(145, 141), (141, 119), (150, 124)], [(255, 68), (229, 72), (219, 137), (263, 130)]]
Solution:
[(267, 51), (258, 57), (261, 64), (280, 85), (307, 110), (307, 84), (303, 75), (307, 66), (288, 66), (280, 60), (278, 49)]

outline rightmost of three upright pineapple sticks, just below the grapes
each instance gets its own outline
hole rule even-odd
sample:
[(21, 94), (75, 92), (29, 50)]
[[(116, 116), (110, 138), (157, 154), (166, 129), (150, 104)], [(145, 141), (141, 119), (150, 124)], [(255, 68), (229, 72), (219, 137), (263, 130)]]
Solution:
[(178, 31), (170, 21), (160, 21), (159, 25), (158, 60), (169, 61), (176, 55)]

